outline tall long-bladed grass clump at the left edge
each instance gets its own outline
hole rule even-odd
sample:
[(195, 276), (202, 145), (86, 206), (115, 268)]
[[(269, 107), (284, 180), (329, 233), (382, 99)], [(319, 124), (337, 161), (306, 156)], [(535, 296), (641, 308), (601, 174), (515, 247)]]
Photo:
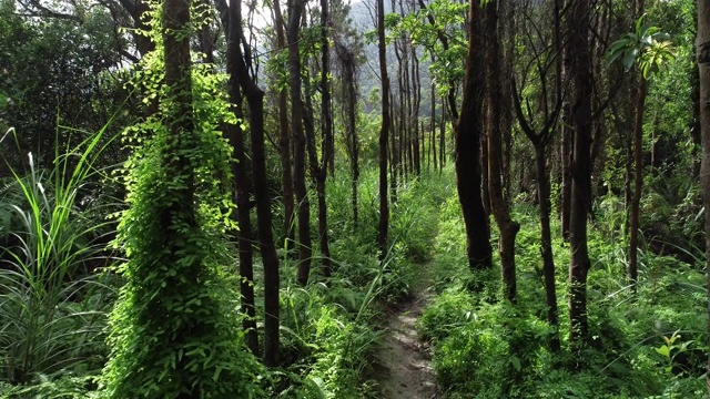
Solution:
[(31, 153), (23, 173), (10, 167), (0, 201), (4, 221), (17, 222), (0, 247), (0, 379), (10, 383), (102, 366), (110, 290), (90, 272), (106, 264), (102, 236), (111, 222), (80, 202), (91, 200), (90, 182), (103, 172), (104, 133), (57, 149), (51, 171)]

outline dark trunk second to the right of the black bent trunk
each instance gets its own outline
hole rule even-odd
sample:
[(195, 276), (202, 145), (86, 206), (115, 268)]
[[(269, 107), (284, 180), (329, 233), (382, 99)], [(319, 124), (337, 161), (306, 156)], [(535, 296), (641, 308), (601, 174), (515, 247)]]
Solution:
[(303, 101), (301, 100), (301, 53), (298, 32), (303, 14), (303, 0), (288, 0), (288, 74), (291, 85), (291, 130), (294, 140), (293, 186), (296, 194), (298, 218), (298, 270), (296, 279), (305, 286), (311, 274), (311, 203), (306, 188), (306, 137), (303, 133)]

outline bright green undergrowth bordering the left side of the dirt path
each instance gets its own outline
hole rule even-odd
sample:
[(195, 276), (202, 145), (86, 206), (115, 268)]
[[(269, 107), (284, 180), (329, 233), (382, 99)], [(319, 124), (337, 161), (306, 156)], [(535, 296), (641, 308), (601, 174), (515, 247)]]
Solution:
[[(282, 336), (291, 359), (283, 379), (291, 386), (283, 397), (379, 398), (373, 369), (383, 335), (383, 309), (412, 294), (416, 265), (428, 262), (437, 232), (437, 214), (450, 182), (437, 173), (400, 184), (390, 213), (389, 250), (377, 260), (377, 174), (359, 180), (359, 221), (352, 221), (348, 174), (328, 185), (333, 276), (312, 276), (307, 287), (293, 288), (293, 272), (282, 289)], [(318, 254), (314, 263), (318, 262)], [(293, 270), (285, 258), (283, 269)], [(315, 268), (314, 268), (315, 269)], [(286, 383), (288, 385), (288, 383)]]

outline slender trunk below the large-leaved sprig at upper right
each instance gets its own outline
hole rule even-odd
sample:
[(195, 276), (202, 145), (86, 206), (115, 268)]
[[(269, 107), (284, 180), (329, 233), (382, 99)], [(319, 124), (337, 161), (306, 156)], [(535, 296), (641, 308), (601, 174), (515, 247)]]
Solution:
[(633, 198), (631, 201), (631, 225), (629, 236), (629, 284), (636, 293), (638, 280), (638, 247), (639, 247), (639, 206), (641, 204), (641, 188), (643, 185), (643, 109), (648, 93), (648, 82), (641, 76), (638, 99), (636, 101), (636, 120), (633, 122)]

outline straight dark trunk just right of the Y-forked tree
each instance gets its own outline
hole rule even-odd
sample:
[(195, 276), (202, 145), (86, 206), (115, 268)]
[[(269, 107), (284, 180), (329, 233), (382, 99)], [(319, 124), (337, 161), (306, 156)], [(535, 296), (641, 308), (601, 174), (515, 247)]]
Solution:
[(587, 326), (587, 274), (589, 252), (587, 248), (587, 212), (591, 197), (591, 53), (589, 49), (588, 0), (576, 0), (570, 4), (567, 57), (570, 58), (569, 73), (574, 81), (571, 108), (575, 130), (571, 164), (571, 198), (569, 217), (569, 340), (574, 348), (580, 348), (588, 337)]

